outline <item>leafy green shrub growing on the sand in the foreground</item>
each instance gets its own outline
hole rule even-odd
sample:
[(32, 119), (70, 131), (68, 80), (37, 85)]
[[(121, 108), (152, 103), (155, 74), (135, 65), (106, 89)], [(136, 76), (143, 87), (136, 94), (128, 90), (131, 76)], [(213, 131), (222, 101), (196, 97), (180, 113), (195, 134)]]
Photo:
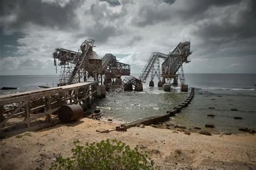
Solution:
[(133, 150), (122, 141), (74, 144), (72, 157), (57, 158), (52, 169), (154, 169), (154, 162), (146, 153), (139, 153), (137, 147)]

